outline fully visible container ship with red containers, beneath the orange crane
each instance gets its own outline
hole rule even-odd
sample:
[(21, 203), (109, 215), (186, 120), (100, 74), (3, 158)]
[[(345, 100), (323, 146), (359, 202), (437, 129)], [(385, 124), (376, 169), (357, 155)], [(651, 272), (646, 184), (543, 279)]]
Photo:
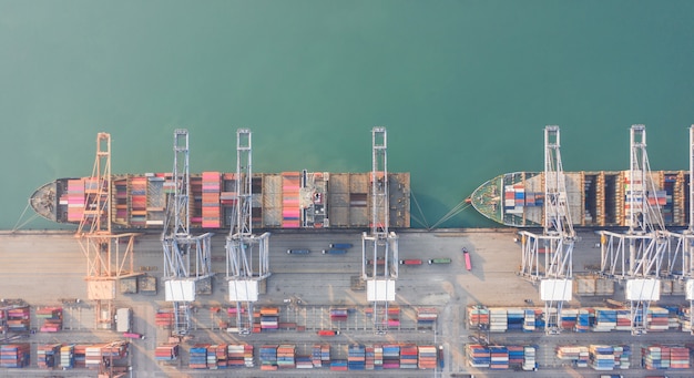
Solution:
[[(236, 173), (190, 175), (191, 227), (228, 229), (237, 202)], [(371, 219), (371, 173), (254, 173), (252, 218), (255, 228), (366, 228)], [(381, 177), (376, 180), (382, 181)], [(114, 174), (110, 184), (112, 226), (163, 228), (174, 194), (171, 173)], [(59, 178), (30, 197), (33, 211), (62, 224), (79, 224), (96, 193), (93, 177)], [(389, 225), (410, 226), (410, 175), (388, 173)], [(86, 210), (89, 211), (89, 210)]]

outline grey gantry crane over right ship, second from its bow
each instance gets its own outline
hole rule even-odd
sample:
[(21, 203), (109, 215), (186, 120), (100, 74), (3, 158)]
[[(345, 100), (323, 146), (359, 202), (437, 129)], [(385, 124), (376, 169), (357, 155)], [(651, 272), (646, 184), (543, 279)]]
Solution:
[(646, 333), (651, 302), (660, 300), (660, 274), (671, 234), (665, 229), (646, 154), (644, 125), (631, 126), (630, 171), (625, 177), (626, 234), (599, 232), (601, 274), (626, 280), (633, 335)]

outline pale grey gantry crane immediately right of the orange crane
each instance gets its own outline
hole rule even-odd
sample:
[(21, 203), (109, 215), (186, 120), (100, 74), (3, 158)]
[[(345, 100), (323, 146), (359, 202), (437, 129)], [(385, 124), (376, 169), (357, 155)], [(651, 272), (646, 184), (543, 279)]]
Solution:
[[(196, 285), (212, 277), (212, 233), (191, 233), (188, 132), (174, 131), (174, 193), (170, 194), (162, 232), (164, 248), (165, 300), (173, 303), (173, 334), (182, 336), (190, 329), (190, 304), (195, 300)], [(193, 258), (193, 262), (191, 262)], [(210, 283), (211, 284), (211, 283)]]

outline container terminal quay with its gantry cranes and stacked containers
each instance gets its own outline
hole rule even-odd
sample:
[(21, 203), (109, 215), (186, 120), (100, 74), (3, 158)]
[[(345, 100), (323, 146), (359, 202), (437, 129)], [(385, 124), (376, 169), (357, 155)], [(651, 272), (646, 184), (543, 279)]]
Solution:
[(114, 227), (100, 134), (76, 233), (0, 234), (0, 376), (691, 377), (692, 243), (659, 228), (643, 127), (632, 126), (629, 229), (612, 231), (573, 229), (555, 126), (543, 228), (396, 227), (389, 217), (409, 208), (391, 198), (408, 198), (409, 180), (389, 186), (385, 129), (372, 135), (370, 187), (343, 212), (357, 204), (366, 226), (302, 227), (299, 211), (282, 217), (289, 227), (254, 228), (239, 130), (229, 229), (212, 233), (191, 227), (191, 197), (203, 197), (200, 222), (220, 215), (204, 214), (204, 175), (188, 195), (182, 130), (166, 211), (153, 227)]

